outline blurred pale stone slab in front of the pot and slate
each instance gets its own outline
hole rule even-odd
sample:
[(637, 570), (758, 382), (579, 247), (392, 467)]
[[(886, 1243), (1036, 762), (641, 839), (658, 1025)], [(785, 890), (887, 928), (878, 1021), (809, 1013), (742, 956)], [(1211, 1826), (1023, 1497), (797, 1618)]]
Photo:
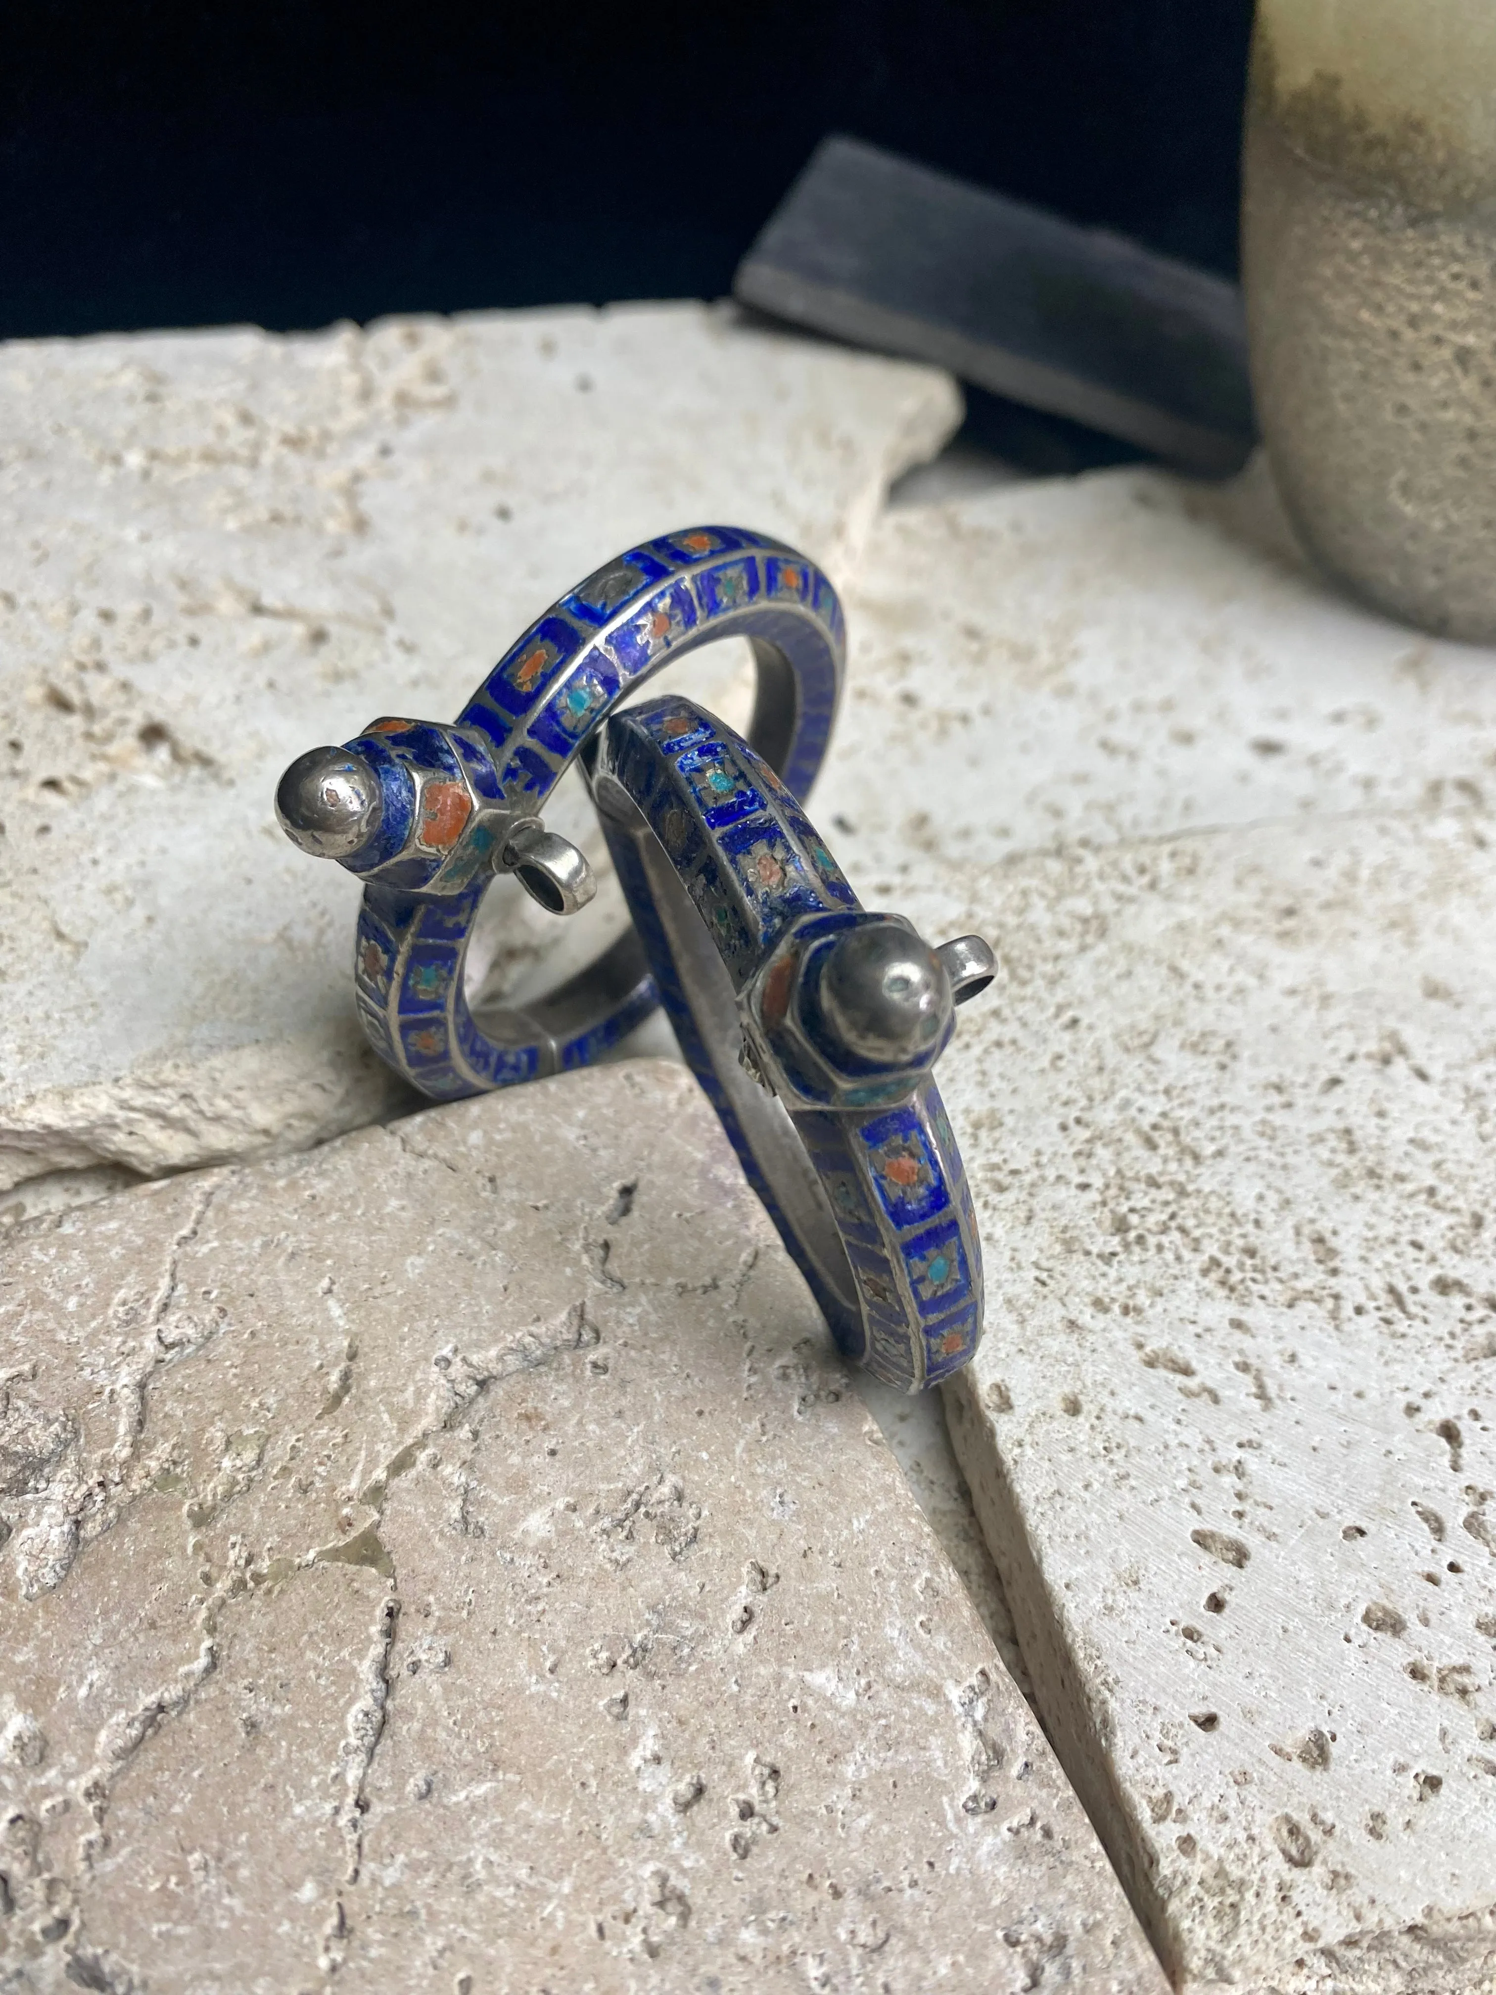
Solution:
[(816, 812), (860, 890), (945, 854), (1494, 794), (1496, 650), (1310, 575), (1263, 463), (892, 511), (848, 632)]

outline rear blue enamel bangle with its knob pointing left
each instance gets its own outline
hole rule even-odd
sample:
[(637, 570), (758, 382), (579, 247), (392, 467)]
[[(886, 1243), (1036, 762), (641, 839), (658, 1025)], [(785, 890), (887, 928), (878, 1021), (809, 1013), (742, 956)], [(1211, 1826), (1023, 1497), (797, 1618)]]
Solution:
[(742, 527), (692, 527), (618, 555), (511, 644), (455, 724), (375, 720), (281, 778), (287, 836), (365, 882), (359, 1019), (423, 1093), (455, 1099), (586, 1065), (654, 1009), (626, 934), (551, 996), (475, 1017), (467, 944), (499, 872), (553, 914), (592, 898), (586, 860), (545, 830), (541, 810), (624, 694), (720, 636), (750, 640), (750, 736), (804, 794), (842, 690), (842, 604), (812, 561)]

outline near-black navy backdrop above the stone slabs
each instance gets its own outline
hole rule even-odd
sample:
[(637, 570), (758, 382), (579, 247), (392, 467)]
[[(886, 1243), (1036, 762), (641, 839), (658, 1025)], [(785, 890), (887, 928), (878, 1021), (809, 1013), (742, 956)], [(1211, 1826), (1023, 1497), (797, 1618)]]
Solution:
[(0, 335), (720, 295), (828, 130), (1235, 269), (1251, 0), (12, 0)]

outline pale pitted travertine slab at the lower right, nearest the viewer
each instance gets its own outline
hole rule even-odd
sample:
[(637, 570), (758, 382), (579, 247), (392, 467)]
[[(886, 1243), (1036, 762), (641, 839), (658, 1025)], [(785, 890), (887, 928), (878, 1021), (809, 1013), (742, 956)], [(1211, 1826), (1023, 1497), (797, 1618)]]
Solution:
[(1496, 826), (947, 856), (910, 910), (1005, 966), (941, 1067), (989, 1297), (951, 1430), (1165, 1963), (1486, 1989)]

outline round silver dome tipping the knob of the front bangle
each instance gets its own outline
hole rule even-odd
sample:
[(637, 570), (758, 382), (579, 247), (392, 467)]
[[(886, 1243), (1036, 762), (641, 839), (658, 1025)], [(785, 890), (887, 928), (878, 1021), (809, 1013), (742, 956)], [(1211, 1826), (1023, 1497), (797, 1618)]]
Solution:
[(949, 1031), (955, 999), (945, 966), (912, 930), (850, 928), (820, 978), (832, 1035), (880, 1067), (908, 1067)]

